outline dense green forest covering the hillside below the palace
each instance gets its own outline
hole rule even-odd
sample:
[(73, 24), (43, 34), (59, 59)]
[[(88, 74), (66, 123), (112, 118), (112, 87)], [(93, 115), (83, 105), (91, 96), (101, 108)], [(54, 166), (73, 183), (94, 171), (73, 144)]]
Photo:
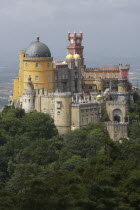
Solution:
[(5, 107), (0, 209), (139, 209), (139, 132), (115, 143), (97, 123), (62, 139), (49, 115)]

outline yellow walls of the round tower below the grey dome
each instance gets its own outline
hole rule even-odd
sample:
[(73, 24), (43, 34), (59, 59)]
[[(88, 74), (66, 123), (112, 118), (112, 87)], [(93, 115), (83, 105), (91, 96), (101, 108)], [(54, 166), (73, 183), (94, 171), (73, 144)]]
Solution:
[[(19, 84), (14, 83), (13, 99), (23, 95), (23, 90), (27, 87), (28, 77), (31, 76), (34, 89), (45, 88), (48, 92), (54, 91), (54, 70), (53, 58), (26, 58), (25, 51), (20, 51), (19, 55)], [(38, 65), (38, 66), (36, 66)], [(17, 94), (19, 93), (19, 94)], [(15, 97), (15, 98), (14, 98)], [(17, 97), (17, 98), (16, 98)]]

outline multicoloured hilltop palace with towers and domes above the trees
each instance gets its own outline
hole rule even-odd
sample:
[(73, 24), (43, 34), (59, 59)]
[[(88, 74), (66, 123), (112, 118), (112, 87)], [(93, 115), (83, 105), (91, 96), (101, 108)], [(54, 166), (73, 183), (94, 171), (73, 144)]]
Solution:
[(111, 138), (127, 138), (127, 111), (133, 103), (130, 65), (87, 68), (82, 39), (82, 33), (68, 33), (68, 55), (57, 63), (39, 37), (20, 51), (11, 105), (26, 113), (50, 114), (60, 135), (98, 122), (107, 114), (110, 120), (105, 124)]

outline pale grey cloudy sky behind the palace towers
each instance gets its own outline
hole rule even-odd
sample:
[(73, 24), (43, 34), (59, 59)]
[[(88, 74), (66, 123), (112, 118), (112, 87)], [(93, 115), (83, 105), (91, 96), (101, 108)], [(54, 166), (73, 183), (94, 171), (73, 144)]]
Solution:
[(83, 32), (85, 62), (140, 57), (140, 0), (0, 0), (0, 57), (40, 36), (56, 60), (67, 55), (68, 32)]

